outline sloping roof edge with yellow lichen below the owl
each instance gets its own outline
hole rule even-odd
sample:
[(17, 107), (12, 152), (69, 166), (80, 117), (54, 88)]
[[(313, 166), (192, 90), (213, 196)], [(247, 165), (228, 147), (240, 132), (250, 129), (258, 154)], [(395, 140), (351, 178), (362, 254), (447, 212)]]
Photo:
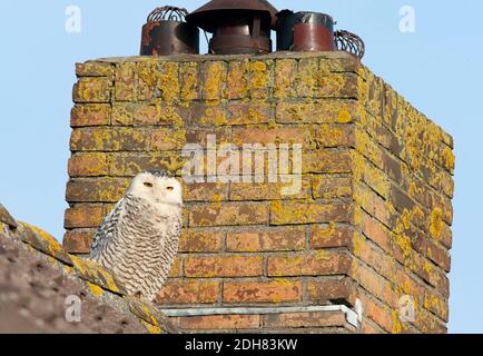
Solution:
[(24, 245), (30, 251), (45, 259), (65, 275), (87, 283), (93, 297), (109, 303), (105, 294), (117, 296), (122, 304), (109, 303), (116, 309), (129, 310), (151, 334), (179, 333), (169, 318), (152, 304), (142, 303), (127, 296), (125, 288), (115, 276), (97, 264), (67, 254), (59, 241), (42, 229), (16, 220), (0, 204), (0, 233)]

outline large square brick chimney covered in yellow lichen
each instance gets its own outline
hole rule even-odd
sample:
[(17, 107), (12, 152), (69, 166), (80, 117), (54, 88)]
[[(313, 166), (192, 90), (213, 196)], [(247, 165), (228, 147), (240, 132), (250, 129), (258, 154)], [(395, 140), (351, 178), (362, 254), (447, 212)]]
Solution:
[[(446, 333), (453, 140), (344, 52), (77, 66), (65, 246), (186, 144), (302, 144), (302, 189), (185, 184), (158, 304), (185, 332)], [(221, 162), (218, 162), (220, 165)]]

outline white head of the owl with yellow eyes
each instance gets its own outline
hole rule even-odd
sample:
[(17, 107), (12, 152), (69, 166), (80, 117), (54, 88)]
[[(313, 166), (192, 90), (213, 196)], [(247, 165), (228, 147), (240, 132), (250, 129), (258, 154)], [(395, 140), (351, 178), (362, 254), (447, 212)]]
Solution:
[(139, 174), (132, 179), (127, 194), (152, 204), (183, 206), (181, 185), (164, 170), (150, 170)]

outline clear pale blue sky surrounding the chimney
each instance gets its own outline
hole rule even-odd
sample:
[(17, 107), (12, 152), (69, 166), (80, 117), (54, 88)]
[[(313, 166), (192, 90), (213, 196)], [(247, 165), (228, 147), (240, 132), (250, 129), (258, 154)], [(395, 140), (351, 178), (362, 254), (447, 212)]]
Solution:
[[(171, 0), (196, 9), (205, 0)], [(294, 1), (273, 0), (278, 9)], [(296, 10), (331, 13), (366, 42), (364, 59), (456, 144), (452, 333), (483, 333), (483, 47), (477, 0), (297, 1)], [(81, 10), (81, 32), (66, 31), (66, 8)], [(137, 55), (140, 29), (157, 1), (1, 1), (0, 202), (18, 219), (61, 238), (76, 61)], [(400, 31), (400, 9), (416, 14)]]

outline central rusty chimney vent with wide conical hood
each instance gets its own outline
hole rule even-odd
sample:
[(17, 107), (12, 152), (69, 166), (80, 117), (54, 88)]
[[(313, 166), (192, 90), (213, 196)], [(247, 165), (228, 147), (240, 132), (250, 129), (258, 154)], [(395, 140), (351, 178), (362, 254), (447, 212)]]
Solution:
[(213, 0), (187, 16), (188, 23), (214, 33), (214, 55), (272, 52), (277, 10), (265, 0)]

